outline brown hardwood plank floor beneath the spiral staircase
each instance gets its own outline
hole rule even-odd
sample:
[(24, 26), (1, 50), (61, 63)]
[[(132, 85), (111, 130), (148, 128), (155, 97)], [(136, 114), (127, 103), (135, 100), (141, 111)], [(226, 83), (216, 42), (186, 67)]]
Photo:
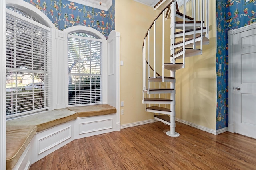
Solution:
[(256, 139), (220, 135), (176, 123), (168, 137), (161, 122), (77, 139), (30, 170), (256, 170)]

